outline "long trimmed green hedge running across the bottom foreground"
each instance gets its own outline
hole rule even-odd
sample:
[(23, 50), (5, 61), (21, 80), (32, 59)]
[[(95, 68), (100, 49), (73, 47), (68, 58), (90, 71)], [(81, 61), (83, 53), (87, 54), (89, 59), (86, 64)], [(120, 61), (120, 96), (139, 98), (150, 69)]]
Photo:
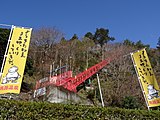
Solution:
[(0, 119), (3, 120), (160, 119), (160, 112), (156, 110), (129, 110), (14, 100), (0, 100), (0, 113)]

